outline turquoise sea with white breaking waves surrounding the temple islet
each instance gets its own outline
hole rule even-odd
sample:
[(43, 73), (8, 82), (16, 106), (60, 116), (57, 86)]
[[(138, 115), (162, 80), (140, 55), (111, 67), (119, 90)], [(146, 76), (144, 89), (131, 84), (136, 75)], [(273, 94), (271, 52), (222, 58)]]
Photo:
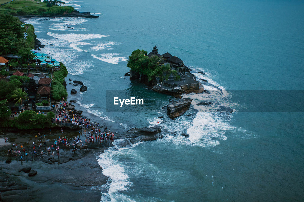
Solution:
[[(99, 18), (27, 22), (42, 43), (54, 44), (42, 50), (64, 62), (67, 79), (88, 86), (88, 91), (70, 98), (113, 127), (159, 124), (166, 136), (131, 148), (120, 148), (122, 140), (115, 140), (116, 147), (96, 158), (110, 177), (99, 187), (102, 201), (302, 200), (303, 113), (238, 112), (246, 105), (229, 92), (302, 89), (302, 1), (65, 2), (80, 12), (99, 13)], [(130, 53), (150, 52), (154, 45), (160, 54), (169, 51), (180, 57), (194, 72), (206, 72), (194, 74), (224, 94), (185, 95), (194, 99), (186, 114), (198, 110), (196, 115), (157, 119), (171, 97), (123, 78)], [(136, 94), (147, 100), (150, 110), (107, 113), (106, 90)], [(202, 100), (236, 112), (226, 119), (195, 106)]]

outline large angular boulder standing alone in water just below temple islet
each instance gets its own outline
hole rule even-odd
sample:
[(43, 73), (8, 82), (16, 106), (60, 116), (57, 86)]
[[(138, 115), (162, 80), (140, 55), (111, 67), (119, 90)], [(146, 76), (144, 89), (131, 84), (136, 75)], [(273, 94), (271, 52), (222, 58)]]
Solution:
[(184, 114), (191, 105), (192, 99), (190, 98), (172, 98), (167, 106), (167, 115), (169, 118), (174, 119)]

